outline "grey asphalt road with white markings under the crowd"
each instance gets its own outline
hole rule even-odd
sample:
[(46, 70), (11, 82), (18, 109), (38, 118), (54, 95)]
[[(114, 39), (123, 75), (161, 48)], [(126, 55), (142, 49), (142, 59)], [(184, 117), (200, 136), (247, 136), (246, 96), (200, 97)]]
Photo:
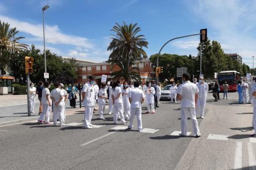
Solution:
[(106, 112), (107, 121), (95, 114), (97, 127), (82, 129), (81, 110), (68, 115), (64, 127), (35, 121), (0, 126), (0, 169), (255, 169), (252, 105), (228, 95), (213, 102), (208, 94), (205, 119), (198, 119), (200, 138), (176, 136), (180, 105), (169, 101), (161, 101), (155, 114), (143, 114), (143, 132), (113, 124)]

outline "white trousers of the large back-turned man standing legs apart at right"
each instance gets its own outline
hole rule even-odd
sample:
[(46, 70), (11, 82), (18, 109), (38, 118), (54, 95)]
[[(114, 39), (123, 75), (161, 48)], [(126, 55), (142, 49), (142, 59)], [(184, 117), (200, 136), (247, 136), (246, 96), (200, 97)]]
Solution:
[(187, 115), (190, 115), (194, 135), (200, 134), (194, 107), (181, 107), (181, 134), (187, 135)]

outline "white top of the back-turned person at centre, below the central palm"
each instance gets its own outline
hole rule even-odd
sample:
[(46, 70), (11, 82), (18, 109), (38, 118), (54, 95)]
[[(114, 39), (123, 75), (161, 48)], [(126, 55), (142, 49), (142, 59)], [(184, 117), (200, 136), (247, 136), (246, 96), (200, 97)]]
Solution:
[(142, 99), (145, 99), (145, 94), (138, 87), (131, 89), (129, 92), (129, 97), (132, 99), (130, 103), (130, 108), (141, 108), (142, 107)]

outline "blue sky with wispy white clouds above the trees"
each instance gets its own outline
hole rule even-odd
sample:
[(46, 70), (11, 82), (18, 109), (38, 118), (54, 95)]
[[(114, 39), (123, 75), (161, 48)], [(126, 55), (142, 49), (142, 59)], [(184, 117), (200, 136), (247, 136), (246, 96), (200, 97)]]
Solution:
[[(0, 0), (0, 20), (16, 27), (18, 36), (25, 36), (20, 42), (43, 51), (42, 7), (46, 4), (46, 49), (64, 57), (108, 60), (111, 28), (123, 22), (138, 23), (148, 41), (148, 57), (169, 39), (197, 34), (203, 28), (225, 53), (241, 55), (249, 67), (252, 56), (256, 57), (254, 0)], [(199, 39), (174, 40), (161, 53), (197, 56)]]

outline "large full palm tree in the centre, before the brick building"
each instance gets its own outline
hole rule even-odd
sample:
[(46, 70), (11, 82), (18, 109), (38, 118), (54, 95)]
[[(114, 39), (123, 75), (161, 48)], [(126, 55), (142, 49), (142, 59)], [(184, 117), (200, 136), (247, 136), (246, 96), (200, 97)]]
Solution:
[(125, 22), (123, 25), (116, 23), (111, 31), (116, 34), (111, 34), (113, 37), (108, 46), (108, 51), (111, 51), (108, 62), (121, 68), (120, 71), (115, 71), (112, 75), (117, 79), (124, 78), (126, 81), (139, 80), (139, 68), (131, 68), (131, 66), (134, 65), (135, 61), (147, 58), (147, 54), (142, 48), (148, 47), (148, 42), (144, 36), (142, 34), (137, 35), (141, 31), (140, 27), (137, 26), (137, 23), (134, 25), (132, 23), (127, 25)]

